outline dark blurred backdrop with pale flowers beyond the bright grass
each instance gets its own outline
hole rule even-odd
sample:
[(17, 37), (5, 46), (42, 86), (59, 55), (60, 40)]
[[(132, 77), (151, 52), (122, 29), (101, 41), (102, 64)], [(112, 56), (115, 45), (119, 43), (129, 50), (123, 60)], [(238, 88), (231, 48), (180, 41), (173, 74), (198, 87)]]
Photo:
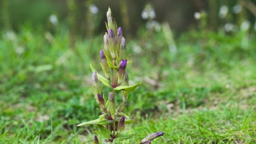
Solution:
[[(253, 29), (256, 14), (254, 0), (1, 0), (0, 4), (2, 29), (19, 32), (21, 26), (29, 25), (51, 31), (53, 25), (67, 25), (74, 35), (79, 36), (102, 34), (106, 31), (104, 22), (108, 6), (115, 13), (119, 26), (124, 27), (131, 36), (148, 20), (168, 22), (177, 35), (182, 31), (196, 29), (196, 19), (199, 19), (196, 12), (207, 13), (207, 29), (217, 30), (227, 23), (239, 27), (244, 21), (249, 22)], [(147, 11), (149, 15), (145, 13), (147, 6), (150, 7)], [(198, 16), (196, 19), (195, 15)]]

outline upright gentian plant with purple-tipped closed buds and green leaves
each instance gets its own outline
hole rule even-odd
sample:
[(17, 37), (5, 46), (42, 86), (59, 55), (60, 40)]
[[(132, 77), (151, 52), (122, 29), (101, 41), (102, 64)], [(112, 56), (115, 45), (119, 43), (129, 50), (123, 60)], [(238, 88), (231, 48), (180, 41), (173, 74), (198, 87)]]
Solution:
[[(127, 64), (131, 61), (126, 60), (126, 40), (123, 37), (122, 29), (117, 28), (117, 24), (110, 8), (107, 12), (108, 22), (106, 27), (108, 33), (103, 37), (104, 47), (100, 50), (101, 68), (105, 74), (105, 77), (100, 75), (95, 68), (92, 69), (92, 92), (94, 98), (100, 106), (101, 115), (98, 119), (94, 119), (90, 122), (84, 122), (77, 126), (96, 124), (99, 127), (99, 131), (103, 137), (106, 138), (105, 142), (116, 142), (130, 139), (134, 134), (121, 134), (125, 124), (131, 124), (134, 122), (129, 116), (122, 113), (124, 109), (129, 91), (132, 91), (138, 87), (140, 83), (135, 85), (129, 85), (129, 76), (126, 70)], [(108, 94), (108, 100), (102, 94), (102, 85), (108, 86), (112, 89)], [(117, 91), (121, 91), (123, 102), (116, 102), (115, 98)], [(162, 136), (163, 132), (156, 132), (149, 134), (140, 143), (151, 143), (151, 140)], [(99, 144), (99, 139), (94, 136), (93, 143)]]

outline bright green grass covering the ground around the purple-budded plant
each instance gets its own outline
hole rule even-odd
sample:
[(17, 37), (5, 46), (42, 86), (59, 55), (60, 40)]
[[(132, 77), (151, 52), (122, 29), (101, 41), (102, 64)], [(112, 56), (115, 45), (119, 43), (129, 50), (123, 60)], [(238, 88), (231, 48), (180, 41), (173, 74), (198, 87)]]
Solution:
[[(256, 143), (255, 35), (191, 30), (170, 53), (163, 31), (147, 33), (127, 45), (130, 83), (143, 83), (129, 94), (124, 112), (136, 121), (125, 132), (135, 135), (123, 143), (157, 131), (153, 143)], [(100, 69), (102, 35), (74, 50), (65, 27), (1, 39), (0, 143), (91, 143), (97, 128), (76, 125), (99, 116), (89, 63)]]

